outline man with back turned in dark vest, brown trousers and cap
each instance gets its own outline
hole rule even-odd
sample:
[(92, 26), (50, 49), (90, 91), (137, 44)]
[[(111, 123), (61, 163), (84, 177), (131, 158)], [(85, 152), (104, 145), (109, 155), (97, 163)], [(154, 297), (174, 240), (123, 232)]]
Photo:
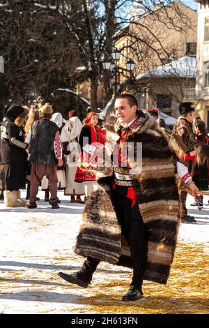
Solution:
[(34, 121), (31, 126), (31, 190), (27, 207), (35, 209), (36, 195), (41, 179), (46, 176), (49, 180), (52, 209), (59, 209), (57, 197), (57, 165), (63, 164), (59, 127), (50, 119), (53, 109), (49, 103), (40, 108), (41, 119)]

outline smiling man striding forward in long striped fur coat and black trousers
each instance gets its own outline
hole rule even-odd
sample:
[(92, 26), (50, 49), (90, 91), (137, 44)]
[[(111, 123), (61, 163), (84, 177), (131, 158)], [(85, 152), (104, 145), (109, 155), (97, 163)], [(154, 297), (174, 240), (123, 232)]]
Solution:
[[(87, 288), (101, 260), (130, 267), (132, 281), (123, 300), (134, 301), (143, 295), (144, 279), (165, 284), (169, 277), (179, 224), (176, 164), (160, 127), (150, 114), (137, 110), (134, 96), (118, 96), (115, 110), (116, 133), (107, 131), (105, 144), (109, 155), (114, 150), (114, 163), (97, 172), (99, 187), (86, 203), (77, 237), (75, 252), (87, 259), (77, 273), (59, 276)], [(118, 147), (110, 149), (114, 142), (109, 136)], [(128, 149), (126, 158), (127, 142), (134, 145), (134, 154)], [(142, 170), (134, 164), (137, 143), (142, 143)], [(180, 177), (187, 174), (183, 165), (178, 171)], [(194, 192), (194, 184), (190, 188)]]

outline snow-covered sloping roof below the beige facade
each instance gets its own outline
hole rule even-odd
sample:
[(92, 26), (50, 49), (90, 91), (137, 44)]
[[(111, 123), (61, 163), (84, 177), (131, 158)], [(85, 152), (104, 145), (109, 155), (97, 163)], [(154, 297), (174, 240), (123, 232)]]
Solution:
[(171, 61), (169, 64), (158, 66), (146, 73), (137, 75), (136, 80), (145, 77), (195, 77), (196, 76), (196, 58), (182, 57)]

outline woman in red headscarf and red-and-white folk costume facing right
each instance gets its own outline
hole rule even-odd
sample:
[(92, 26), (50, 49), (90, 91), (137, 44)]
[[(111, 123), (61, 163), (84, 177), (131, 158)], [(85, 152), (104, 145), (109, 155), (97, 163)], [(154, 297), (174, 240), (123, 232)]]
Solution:
[(75, 181), (78, 183), (85, 182), (85, 196), (91, 195), (95, 183), (95, 173), (93, 165), (97, 162), (95, 151), (97, 145), (104, 144), (104, 133), (100, 130), (98, 124), (98, 114), (89, 112), (85, 119), (85, 125), (82, 128), (79, 145), (81, 147), (81, 165), (77, 167)]

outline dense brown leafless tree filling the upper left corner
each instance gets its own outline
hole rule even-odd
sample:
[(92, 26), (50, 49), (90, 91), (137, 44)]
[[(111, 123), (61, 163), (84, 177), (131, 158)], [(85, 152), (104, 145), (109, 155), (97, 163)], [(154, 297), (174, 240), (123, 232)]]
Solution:
[[(5, 74), (0, 85), (5, 101), (26, 103), (41, 95), (53, 102), (53, 91), (75, 87), (79, 48), (71, 17), (61, 1), (5, 1), (0, 7), (0, 52)], [(80, 37), (81, 38), (81, 37)]]

